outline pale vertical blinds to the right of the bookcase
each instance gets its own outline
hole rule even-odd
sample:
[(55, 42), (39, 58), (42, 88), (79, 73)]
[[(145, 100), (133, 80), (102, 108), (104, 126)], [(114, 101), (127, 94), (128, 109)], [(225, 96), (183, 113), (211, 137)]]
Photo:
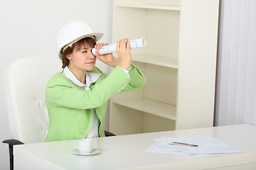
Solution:
[(256, 1), (221, 7), (215, 125), (256, 125)]

